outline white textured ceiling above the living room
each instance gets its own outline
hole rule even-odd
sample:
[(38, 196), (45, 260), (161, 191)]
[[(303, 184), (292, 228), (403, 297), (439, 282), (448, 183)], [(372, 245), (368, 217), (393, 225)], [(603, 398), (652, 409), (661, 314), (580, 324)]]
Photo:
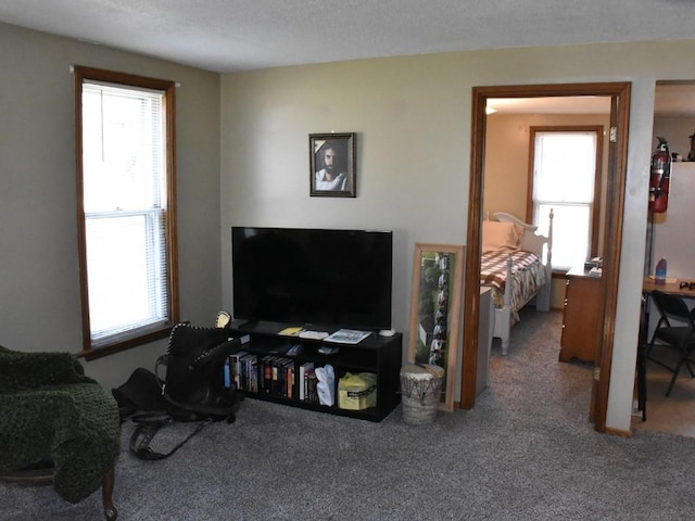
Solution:
[(690, 39), (695, 0), (0, 0), (0, 21), (226, 73)]

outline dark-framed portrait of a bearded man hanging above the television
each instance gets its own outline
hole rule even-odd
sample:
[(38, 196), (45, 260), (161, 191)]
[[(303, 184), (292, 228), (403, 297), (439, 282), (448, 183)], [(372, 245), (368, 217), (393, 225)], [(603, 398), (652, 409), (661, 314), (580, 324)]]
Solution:
[[(354, 198), (357, 193), (355, 173), (355, 132), (309, 134), (309, 195)], [(327, 163), (333, 171), (327, 171)]]

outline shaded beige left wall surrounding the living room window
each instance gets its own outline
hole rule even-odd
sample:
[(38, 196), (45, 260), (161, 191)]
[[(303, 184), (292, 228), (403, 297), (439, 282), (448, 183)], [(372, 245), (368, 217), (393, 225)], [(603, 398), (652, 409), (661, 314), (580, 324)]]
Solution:
[[(220, 306), (219, 76), (0, 24), (0, 344), (81, 350), (71, 65), (180, 82), (177, 101), (181, 316)], [(108, 389), (152, 369), (166, 341), (86, 363)]]

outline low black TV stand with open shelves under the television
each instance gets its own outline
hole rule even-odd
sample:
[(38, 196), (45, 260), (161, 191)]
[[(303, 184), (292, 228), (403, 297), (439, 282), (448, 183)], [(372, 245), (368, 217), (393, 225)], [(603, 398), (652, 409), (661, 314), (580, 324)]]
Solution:
[[(380, 336), (376, 332), (357, 344), (339, 344), (279, 334), (283, 329), (293, 326), (262, 320), (232, 320), (230, 323), (231, 334), (242, 339), (242, 344), (240, 353), (230, 358), (230, 383), (233, 385), (237, 382), (237, 385), (250, 398), (369, 421), (383, 420), (399, 405), (401, 402), (399, 383), (403, 342), (401, 333), (395, 333), (393, 336)], [(306, 329), (331, 333), (340, 328), (312, 325)], [(288, 354), (288, 351), (295, 345), (300, 346), (299, 353), (296, 355)], [(339, 350), (334, 354), (325, 355), (318, 351), (321, 346), (337, 346)], [(244, 358), (243, 370), (248, 371), (248, 374), (235, 376), (240, 358)], [(336, 399), (332, 406), (320, 405), (306, 399), (306, 397), (300, 399), (300, 385), (304, 384), (300, 381), (300, 368), (305, 364), (313, 364), (314, 367), (330, 364), (333, 367)], [(262, 376), (258, 374), (260, 371), (263, 373)], [(377, 401), (375, 407), (362, 410), (339, 407), (338, 384), (346, 372), (376, 374)], [(270, 374), (269, 380), (268, 373)], [(256, 380), (250, 379), (250, 376)]]

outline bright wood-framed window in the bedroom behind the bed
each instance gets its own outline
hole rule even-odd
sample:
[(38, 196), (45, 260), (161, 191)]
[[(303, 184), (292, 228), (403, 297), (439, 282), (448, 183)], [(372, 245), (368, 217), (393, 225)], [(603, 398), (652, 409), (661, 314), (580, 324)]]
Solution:
[(532, 223), (548, 226), (553, 208), (553, 267), (583, 266), (595, 255), (603, 127), (531, 127)]

